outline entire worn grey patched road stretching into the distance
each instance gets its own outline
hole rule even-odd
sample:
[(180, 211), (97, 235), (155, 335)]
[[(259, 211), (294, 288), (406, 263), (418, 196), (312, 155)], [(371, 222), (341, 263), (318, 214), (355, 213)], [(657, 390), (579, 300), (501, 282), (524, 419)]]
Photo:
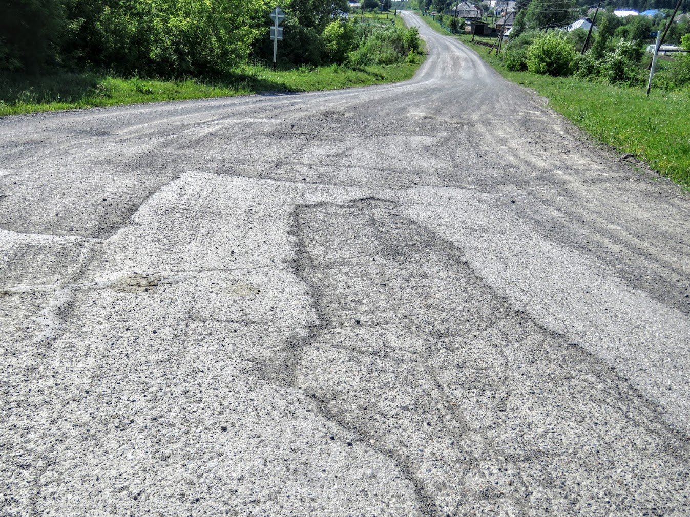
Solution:
[(690, 515), (689, 197), (420, 33), (0, 120), (0, 516)]

